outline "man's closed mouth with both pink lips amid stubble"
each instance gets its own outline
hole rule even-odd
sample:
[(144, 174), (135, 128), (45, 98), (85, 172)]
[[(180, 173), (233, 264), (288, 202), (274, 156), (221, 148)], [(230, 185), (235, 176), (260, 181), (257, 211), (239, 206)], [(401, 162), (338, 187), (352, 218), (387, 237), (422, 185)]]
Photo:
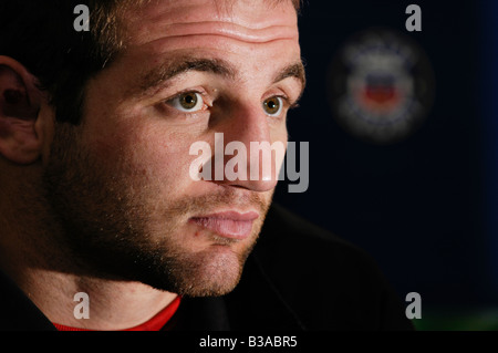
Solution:
[(229, 239), (243, 240), (252, 231), (252, 224), (259, 218), (255, 211), (238, 212), (226, 211), (193, 217), (188, 221), (203, 229), (216, 232), (218, 236)]

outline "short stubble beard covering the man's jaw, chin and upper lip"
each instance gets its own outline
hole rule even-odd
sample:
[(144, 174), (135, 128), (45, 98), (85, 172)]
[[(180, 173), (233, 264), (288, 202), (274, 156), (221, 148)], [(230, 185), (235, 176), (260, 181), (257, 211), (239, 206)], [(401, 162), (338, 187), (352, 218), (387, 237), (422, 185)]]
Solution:
[[(90, 276), (138, 281), (187, 297), (222, 295), (238, 283), (271, 203), (258, 194), (219, 194), (163, 200), (159, 185), (139, 185), (122, 163), (100, 163), (80, 143), (77, 127), (56, 124), (44, 174), (46, 200), (62, 226), (72, 261)], [(188, 177), (188, 176), (187, 176)], [(153, 200), (156, 200), (154, 203)], [(261, 217), (251, 236), (210, 235), (193, 250), (181, 233), (191, 215), (226, 205), (250, 205)], [(155, 216), (153, 216), (155, 215)], [(158, 216), (157, 216), (158, 215)]]

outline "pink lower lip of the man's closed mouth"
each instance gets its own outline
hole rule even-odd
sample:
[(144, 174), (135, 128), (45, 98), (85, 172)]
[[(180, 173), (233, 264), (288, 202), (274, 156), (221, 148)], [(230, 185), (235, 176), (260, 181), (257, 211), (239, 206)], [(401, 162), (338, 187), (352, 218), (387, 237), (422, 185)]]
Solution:
[(190, 218), (190, 222), (211, 230), (221, 237), (230, 239), (246, 239), (252, 231), (253, 220), (236, 220), (228, 218)]

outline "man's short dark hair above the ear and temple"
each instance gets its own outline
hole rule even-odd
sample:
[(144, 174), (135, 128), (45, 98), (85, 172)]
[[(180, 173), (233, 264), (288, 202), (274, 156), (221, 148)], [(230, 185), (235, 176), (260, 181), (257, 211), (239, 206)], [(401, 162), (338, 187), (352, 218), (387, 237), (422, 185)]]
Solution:
[[(79, 124), (86, 82), (123, 49), (121, 14), (146, 1), (1, 0), (0, 55), (15, 59), (38, 79), (58, 122)], [(299, 12), (300, 0), (291, 1)], [(77, 4), (91, 9), (87, 32), (73, 29)]]

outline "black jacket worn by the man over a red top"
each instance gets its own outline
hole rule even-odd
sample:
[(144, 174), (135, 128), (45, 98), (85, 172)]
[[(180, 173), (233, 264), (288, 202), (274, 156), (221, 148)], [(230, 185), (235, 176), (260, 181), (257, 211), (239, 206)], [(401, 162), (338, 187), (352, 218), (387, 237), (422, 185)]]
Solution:
[[(55, 330), (0, 276), (0, 330)], [(413, 330), (395, 292), (363, 251), (270, 208), (240, 283), (220, 298), (184, 298), (168, 330)]]

